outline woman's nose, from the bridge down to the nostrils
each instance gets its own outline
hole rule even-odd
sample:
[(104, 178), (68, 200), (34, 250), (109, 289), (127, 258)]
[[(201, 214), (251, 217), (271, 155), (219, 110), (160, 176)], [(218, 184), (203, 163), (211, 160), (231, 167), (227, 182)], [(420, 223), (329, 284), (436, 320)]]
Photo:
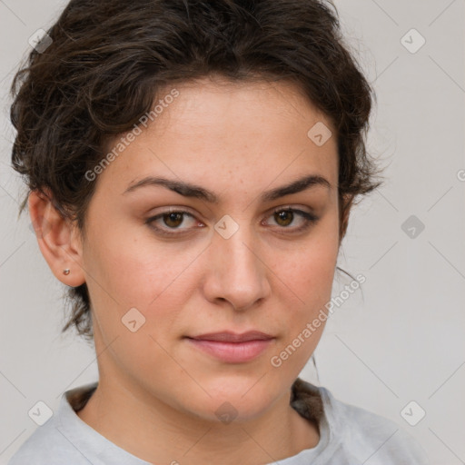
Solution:
[(210, 302), (227, 301), (243, 312), (270, 294), (270, 271), (250, 228), (241, 225), (228, 239), (215, 232), (208, 253), (203, 292)]

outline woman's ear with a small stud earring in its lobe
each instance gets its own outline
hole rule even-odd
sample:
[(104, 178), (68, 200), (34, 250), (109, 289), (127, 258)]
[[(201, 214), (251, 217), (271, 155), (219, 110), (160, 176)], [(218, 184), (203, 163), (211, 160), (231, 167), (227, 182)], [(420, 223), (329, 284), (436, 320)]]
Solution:
[[(64, 218), (52, 203), (49, 191), (29, 194), (28, 208), (35, 236), (45, 261), (54, 276), (64, 284), (77, 287), (85, 282), (81, 236), (73, 222)], [(69, 274), (64, 270), (69, 269)]]

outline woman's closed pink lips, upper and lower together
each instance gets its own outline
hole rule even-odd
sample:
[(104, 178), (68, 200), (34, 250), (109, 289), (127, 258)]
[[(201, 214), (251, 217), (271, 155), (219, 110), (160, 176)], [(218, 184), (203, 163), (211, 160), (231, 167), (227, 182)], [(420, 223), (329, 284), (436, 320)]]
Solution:
[(223, 331), (187, 337), (197, 349), (227, 363), (252, 361), (272, 344), (274, 337), (261, 331), (242, 334)]

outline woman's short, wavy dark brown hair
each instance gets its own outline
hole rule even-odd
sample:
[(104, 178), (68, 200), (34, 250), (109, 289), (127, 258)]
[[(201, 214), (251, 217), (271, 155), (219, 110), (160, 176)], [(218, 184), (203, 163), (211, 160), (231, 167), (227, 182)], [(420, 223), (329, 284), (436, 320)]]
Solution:
[[(341, 218), (347, 195), (381, 185), (364, 143), (375, 95), (331, 0), (71, 0), (47, 35), (12, 84), (12, 163), (29, 192), (51, 193), (82, 233), (96, 183), (84, 173), (102, 159), (105, 138), (130, 130), (166, 85), (212, 74), (291, 80), (331, 120)], [(62, 331), (74, 326), (92, 340), (86, 284), (67, 297)]]

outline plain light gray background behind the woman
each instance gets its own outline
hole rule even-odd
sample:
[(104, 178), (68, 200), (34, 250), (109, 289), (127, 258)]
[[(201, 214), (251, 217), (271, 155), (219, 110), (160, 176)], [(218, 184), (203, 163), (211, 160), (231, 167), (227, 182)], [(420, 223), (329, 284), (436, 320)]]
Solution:
[[(432, 464), (464, 463), (465, 1), (335, 3), (378, 95), (368, 147), (389, 166), (381, 191), (353, 211), (341, 248), (339, 265), (366, 277), (362, 292), (335, 308), (318, 372), (309, 363), (302, 376), (409, 430)], [(28, 38), (63, 5), (0, 0), (1, 464), (37, 428), (27, 415), (37, 401), (54, 410), (63, 391), (98, 376), (92, 347), (60, 335), (64, 287), (27, 213), (17, 220), (25, 188), (9, 159), (8, 87)], [(412, 28), (426, 39), (414, 54), (401, 42)], [(411, 33), (406, 40), (419, 44)], [(411, 215), (425, 226), (413, 238), (401, 228)], [(333, 295), (349, 282), (337, 275)], [(410, 401), (426, 411), (416, 426), (401, 416)]]

